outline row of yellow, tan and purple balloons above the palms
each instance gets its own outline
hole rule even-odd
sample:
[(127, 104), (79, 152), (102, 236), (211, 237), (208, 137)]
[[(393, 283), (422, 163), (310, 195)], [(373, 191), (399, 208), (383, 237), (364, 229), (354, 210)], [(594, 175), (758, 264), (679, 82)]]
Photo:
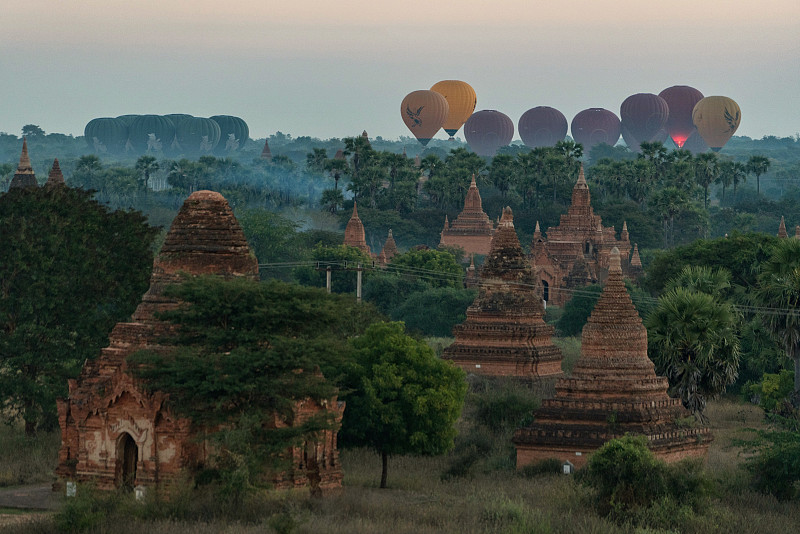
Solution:
[[(470, 148), (480, 156), (493, 156), (511, 143), (514, 123), (495, 110), (475, 112), (475, 90), (466, 82), (444, 80), (430, 90), (413, 91), (400, 105), (409, 130), (426, 146), (440, 128), (453, 138), (461, 126)], [(620, 117), (603, 108), (589, 108), (572, 119), (573, 139), (586, 152), (593, 146), (615, 145), (622, 135), (631, 150), (642, 142), (671, 138), (678, 148), (718, 152), (739, 127), (739, 105), (726, 96), (707, 96), (693, 87), (675, 85), (658, 95), (631, 95), (620, 106)], [(538, 106), (519, 119), (519, 135), (526, 146), (553, 146), (567, 135), (567, 119), (557, 109)]]

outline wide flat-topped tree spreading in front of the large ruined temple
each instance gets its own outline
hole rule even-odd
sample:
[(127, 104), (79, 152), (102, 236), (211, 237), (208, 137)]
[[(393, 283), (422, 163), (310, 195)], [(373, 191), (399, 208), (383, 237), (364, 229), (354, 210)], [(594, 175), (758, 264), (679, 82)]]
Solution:
[[(347, 338), (366, 329), (374, 309), (276, 280), (192, 277), (166, 293), (187, 303), (160, 315), (179, 326), (175, 348), (133, 354), (131, 368), (216, 444), (225, 486), (239, 495), (264, 485), (289, 445), (330, 428), (326, 417), (298, 425), (295, 404), (335, 394)], [(275, 417), (288, 428), (276, 428)]]

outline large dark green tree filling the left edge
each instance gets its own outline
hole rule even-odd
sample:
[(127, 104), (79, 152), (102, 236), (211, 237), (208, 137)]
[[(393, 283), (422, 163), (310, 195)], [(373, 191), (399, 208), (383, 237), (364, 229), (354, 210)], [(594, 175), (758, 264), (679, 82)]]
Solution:
[(27, 434), (56, 425), (87, 358), (146, 291), (157, 229), (66, 187), (0, 196), (0, 403)]

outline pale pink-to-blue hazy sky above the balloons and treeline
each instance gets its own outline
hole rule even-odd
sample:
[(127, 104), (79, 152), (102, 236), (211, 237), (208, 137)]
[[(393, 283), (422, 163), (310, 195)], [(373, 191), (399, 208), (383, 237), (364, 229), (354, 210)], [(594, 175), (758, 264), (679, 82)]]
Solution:
[(736, 135), (800, 133), (797, 0), (3, 0), (0, 20), (15, 135), (189, 113), (240, 116), (254, 138), (397, 139), (403, 97), (445, 79), (515, 125), (691, 85), (739, 104)]

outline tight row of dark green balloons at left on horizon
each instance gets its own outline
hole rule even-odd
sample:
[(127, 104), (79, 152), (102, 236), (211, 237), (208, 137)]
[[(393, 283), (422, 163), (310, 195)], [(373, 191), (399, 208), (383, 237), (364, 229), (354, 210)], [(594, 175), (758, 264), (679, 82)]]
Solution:
[(83, 130), (86, 144), (97, 154), (215, 154), (225, 156), (243, 147), (250, 135), (247, 123), (232, 115), (193, 117), (121, 115), (92, 119)]

